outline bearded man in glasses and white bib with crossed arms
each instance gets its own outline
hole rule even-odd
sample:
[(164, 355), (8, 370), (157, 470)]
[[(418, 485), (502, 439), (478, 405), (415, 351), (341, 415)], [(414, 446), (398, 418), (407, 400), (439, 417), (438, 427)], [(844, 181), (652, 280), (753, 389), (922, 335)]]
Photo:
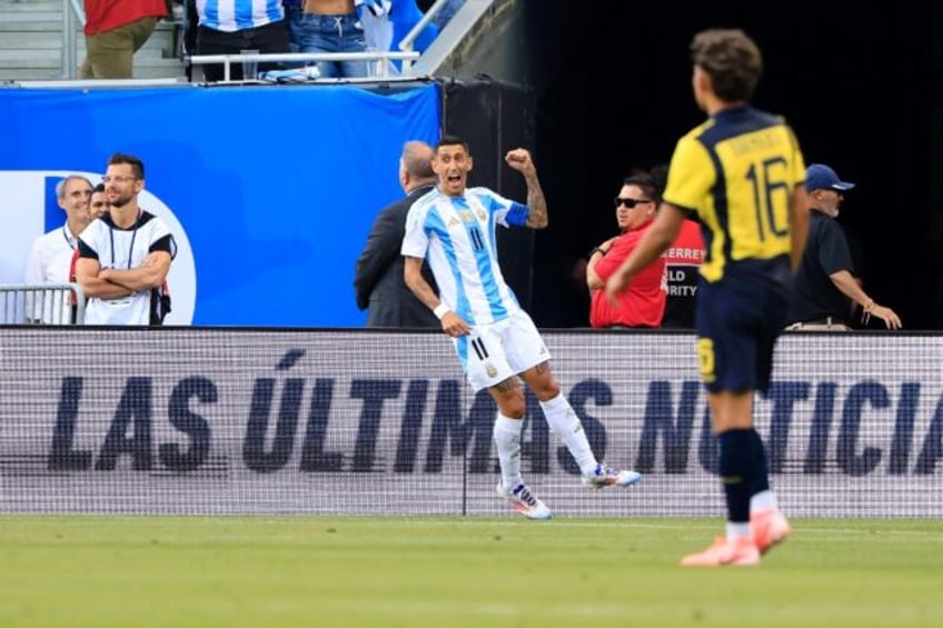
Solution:
[(89, 297), (86, 325), (150, 325), (176, 253), (160, 218), (138, 205), (145, 166), (112, 154), (102, 178), (109, 211), (79, 238), (76, 279)]

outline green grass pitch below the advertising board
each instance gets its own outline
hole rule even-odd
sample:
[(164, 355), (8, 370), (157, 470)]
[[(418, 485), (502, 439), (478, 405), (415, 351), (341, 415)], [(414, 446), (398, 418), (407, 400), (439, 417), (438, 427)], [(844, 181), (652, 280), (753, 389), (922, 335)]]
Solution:
[(758, 567), (692, 519), (0, 517), (0, 626), (943, 626), (943, 524), (793, 520)]

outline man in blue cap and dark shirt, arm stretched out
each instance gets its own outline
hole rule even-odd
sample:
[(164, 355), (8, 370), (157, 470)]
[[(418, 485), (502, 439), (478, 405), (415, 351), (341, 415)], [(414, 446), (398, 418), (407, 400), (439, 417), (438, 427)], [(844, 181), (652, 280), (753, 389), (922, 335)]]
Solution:
[(788, 330), (843, 331), (850, 329), (848, 299), (861, 306), (863, 321), (880, 318), (889, 329), (900, 329), (901, 319), (891, 308), (879, 306), (855, 279), (854, 265), (844, 231), (834, 218), (854, 183), (842, 181), (830, 167), (813, 163), (805, 171), (811, 205), (808, 238), (795, 271)]

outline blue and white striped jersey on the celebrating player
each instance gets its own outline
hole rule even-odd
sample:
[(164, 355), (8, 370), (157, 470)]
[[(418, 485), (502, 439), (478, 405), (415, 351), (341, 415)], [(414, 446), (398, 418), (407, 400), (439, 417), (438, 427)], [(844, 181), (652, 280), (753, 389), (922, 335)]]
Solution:
[(439, 299), (468, 325), (487, 325), (520, 309), (498, 266), (497, 225), (523, 227), (528, 208), (487, 188), (463, 197), (433, 190), (409, 209), (401, 253), (425, 258)]

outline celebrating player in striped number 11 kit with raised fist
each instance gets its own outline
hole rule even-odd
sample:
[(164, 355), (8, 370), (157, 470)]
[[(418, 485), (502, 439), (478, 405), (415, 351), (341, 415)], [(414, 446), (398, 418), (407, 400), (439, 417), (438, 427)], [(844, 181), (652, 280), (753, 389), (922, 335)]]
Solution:
[[(433, 158), (438, 187), (416, 201), (406, 217), (404, 272), (406, 285), (451, 337), (469, 383), (476, 391), (487, 388), (498, 406), (494, 427), (502, 474), (498, 496), (529, 519), (549, 519), (549, 508), (520, 475), (526, 398), (518, 377), (539, 400), (544, 417), (573, 455), (586, 486), (629, 486), (642, 476), (596, 460), (579, 418), (550, 371), (550, 355), (540, 333), (504, 281), (496, 226), (547, 226), (547, 203), (530, 153), (523, 148), (510, 150), (505, 161), (524, 176), (526, 206), (487, 188), (468, 189), (473, 167), (468, 144), (453, 136), (439, 140)], [(439, 295), (423, 278), (427, 257)]]

